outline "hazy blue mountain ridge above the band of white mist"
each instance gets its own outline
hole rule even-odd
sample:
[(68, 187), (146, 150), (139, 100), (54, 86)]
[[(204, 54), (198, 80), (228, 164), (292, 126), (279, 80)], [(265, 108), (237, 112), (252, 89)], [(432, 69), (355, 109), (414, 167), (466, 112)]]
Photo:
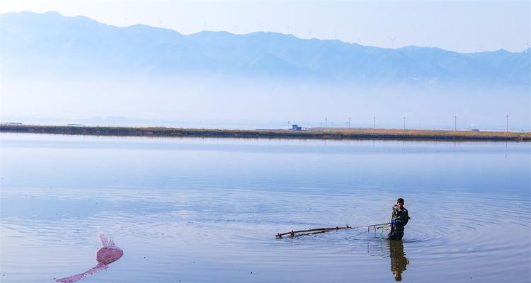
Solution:
[[(280, 33), (119, 28), (57, 12), (0, 15), (4, 72), (116, 71), (257, 76), (353, 83), (530, 86), (530, 53), (386, 49)], [(527, 50), (529, 51), (529, 50)]]

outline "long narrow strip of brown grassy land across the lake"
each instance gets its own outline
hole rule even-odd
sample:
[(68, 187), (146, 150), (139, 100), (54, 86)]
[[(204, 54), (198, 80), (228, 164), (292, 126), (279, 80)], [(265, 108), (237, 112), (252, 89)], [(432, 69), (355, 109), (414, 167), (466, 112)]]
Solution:
[(244, 139), (374, 139), (417, 141), (531, 141), (531, 132), (476, 132), (426, 129), (312, 128), (184, 129), (169, 127), (92, 127), (53, 125), (0, 125), (0, 132), (132, 137), (205, 137)]

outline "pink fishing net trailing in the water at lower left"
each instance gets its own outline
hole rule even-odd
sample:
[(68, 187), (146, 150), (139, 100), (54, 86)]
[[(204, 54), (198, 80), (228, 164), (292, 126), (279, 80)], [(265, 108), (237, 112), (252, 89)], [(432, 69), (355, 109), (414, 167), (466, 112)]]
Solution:
[(56, 279), (55, 282), (77, 282), (87, 276), (95, 274), (96, 272), (106, 270), (111, 263), (122, 258), (123, 250), (118, 248), (118, 246), (115, 245), (113, 240), (107, 238), (107, 236), (105, 236), (105, 234), (103, 233), (100, 234), (100, 238), (103, 248), (99, 249), (96, 253), (96, 260), (98, 261), (98, 265), (92, 267), (86, 272), (79, 273), (78, 275), (72, 275), (70, 277)]

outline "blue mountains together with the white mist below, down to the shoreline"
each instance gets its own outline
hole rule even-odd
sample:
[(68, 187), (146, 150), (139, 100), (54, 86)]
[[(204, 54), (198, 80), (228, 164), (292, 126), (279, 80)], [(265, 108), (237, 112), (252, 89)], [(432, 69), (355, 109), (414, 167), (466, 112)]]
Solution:
[(530, 129), (527, 52), (384, 49), (59, 13), (0, 16), (1, 122)]

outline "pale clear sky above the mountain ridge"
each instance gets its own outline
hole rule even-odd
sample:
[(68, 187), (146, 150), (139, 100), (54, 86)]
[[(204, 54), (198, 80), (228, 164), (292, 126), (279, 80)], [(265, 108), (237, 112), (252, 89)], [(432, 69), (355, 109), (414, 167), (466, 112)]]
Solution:
[(110, 25), (179, 33), (258, 30), (337, 38), (379, 47), (435, 46), (458, 52), (525, 50), (530, 1), (94, 1), (3, 0), (0, 13), (58, 11)]

